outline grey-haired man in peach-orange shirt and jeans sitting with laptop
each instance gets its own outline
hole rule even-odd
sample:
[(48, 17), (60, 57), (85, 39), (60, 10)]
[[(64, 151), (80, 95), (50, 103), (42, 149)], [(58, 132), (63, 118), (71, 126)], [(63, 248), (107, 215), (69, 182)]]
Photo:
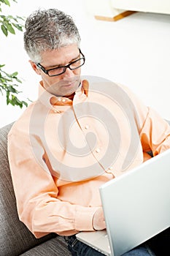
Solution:
[(82, 80), (80, 34), (63, 12), (33, 12), (24, 44), (42, 80), (8, 136), (18, 215), (36, 238), (58, 233), (72, 255), (101, 255), (74, 236), (106, 228), (98, 187), (169, 148), (169, 124), (124, 86)]

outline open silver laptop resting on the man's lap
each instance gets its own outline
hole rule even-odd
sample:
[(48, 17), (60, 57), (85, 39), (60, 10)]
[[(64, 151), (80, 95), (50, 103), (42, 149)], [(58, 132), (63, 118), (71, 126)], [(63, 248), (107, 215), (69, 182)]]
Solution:
[(106, 230), (77, 239), (120, 256), (170, 226), (170, 149), (100, 187)]

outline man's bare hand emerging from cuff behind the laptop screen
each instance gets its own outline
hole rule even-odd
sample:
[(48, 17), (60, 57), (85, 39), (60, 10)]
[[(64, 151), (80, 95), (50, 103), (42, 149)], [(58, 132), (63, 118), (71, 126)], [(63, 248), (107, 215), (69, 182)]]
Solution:
[(102, 208), (99, 208), (93, 216), (93, 228), (95, 230), (104, 230), (106, 228)]

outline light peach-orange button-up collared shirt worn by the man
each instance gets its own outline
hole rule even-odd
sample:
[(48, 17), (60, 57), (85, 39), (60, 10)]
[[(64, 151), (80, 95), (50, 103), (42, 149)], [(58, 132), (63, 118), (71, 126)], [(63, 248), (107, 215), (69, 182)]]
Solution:
[(98, 187), (149, 159), (147, 151), (170, 148), (169, 124), (126, 87), (109, 86), (95, 84), (88, 97), (77, 89), (71, 100), (40, 83), (39, 99), (9, 132), (18, 215), (37, 238), (93, 230)]

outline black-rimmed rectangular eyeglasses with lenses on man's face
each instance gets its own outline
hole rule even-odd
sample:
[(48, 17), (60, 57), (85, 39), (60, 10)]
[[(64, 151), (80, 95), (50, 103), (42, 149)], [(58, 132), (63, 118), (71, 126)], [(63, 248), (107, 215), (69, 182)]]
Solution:
[(82, 58), (77, 59), (76, 61), (72, 61), (66, 66), (54, 67), (53, 69), (45, 69), (45, 67), (42, 67), (42, 65), (38, 63), (36, 64), (36, 67), (39, 67), (39, 69), (42, 69), (42, 71), (45, 72), (45, 74), (49, 75), (50, 77), (63, 74), (64, 72), (66, 72), (67, 68), (69, 68), (70, 70), (78, 69), (79, 67), (82, 67), (82, 65), (85, 64), (85, 56), (82, 54), (80, 49), (79, 51), (80, 51), (80, 54), (82, 55)]

